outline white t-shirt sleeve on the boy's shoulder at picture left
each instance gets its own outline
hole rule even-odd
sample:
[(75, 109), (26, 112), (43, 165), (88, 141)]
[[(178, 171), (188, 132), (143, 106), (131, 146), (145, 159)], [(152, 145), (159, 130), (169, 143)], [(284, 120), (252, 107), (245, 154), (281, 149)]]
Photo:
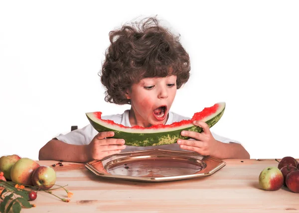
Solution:
[(97, 134), (97, 130), (91, 124), (88, 124), (81, 129), (73, 130), (67, 134), (59, 134), (56, 138), (68, 144), (87, 145)]

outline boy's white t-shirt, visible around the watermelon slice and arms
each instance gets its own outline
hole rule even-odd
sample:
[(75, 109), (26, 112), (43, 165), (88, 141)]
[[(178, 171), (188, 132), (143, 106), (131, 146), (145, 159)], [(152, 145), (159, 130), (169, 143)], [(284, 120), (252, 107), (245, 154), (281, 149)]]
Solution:
[[(173, 122), (179, 122), (181, 120), (188, 120), (190, 118), (181, 116), (174, 112), (169, 112), (168, 119), (165, 124), (171, 124)], [(113, 114), (113, 115), (102, 115), (102, 119), (113, 120), (115, 123), (122, 124), (124, 126), (132, 127), (129, 120), (129, 109), (125, 110), (123, 114)], [(67, 134), (59, 134), (56, 138), (68, 144), (74, 145), (87, 145), (99, 132), (91, 125), (83, 127), (82, 129), (76, 129)], [(239, 143), (238, 141), (219, 136), (212, 132), (213, 137), (223, 143)], [(187, 151), (181, 149), (177, 143), (157, 145), (157, 146), (129, 146), (127, 145), (122, 152), (146, 150), (146, 149), (167, 149), (167, 150), (179, 150)]]

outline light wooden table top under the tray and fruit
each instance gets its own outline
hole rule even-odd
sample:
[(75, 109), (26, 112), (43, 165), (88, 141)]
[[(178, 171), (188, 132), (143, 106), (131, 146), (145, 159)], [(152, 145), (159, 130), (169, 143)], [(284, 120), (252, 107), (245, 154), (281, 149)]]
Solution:
[[(183, 212), (183, 213), (299, 213), (299, 194), (286, 187), (261, 190), (260, 172), (277, 166), (274, 159), (225, 160), (225, 167), (211, 176), (173, 182), (134, 182), (97, 177), (84, 164), (63, 162), (54, 167), (56, 184), (74, 195), (69, 203), (39, 192), (23, 213)], [(52, 165), (57, 161), (38, 161)], [(54, 194), (67, 198), (63, 190)]]

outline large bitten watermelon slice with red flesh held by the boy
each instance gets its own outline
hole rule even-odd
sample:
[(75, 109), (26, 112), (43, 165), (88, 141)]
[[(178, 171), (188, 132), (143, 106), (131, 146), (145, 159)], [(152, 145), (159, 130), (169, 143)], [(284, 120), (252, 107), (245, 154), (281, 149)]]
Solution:
[(126, 145), (131, 146), (155, 146), (176, 143), (177, 139), (189, 139), (180, 134), (183, 130), (202, 132), (202, 128), (193, 124), (194, 120), (201, 120), (211, 128), (224, 113), (225, 102), (206, 107), (200, 112), (194, 113), (191, 119), (173, 122), (167, 125), (152, 125), (150, 127), (128, 127), (117, 124), (113, 120), (101, 118), (102, 112), (88, 112), (86, 116), (91, 125), (98, 131), (114, 131), (112, 138), (122, 138)]

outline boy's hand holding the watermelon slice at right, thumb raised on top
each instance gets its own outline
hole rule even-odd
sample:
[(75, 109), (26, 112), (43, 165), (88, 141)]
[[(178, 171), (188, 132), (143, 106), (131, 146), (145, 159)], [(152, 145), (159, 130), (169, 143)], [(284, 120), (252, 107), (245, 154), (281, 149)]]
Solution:
[(180, 148), (198, 152), (201, 155), (216, 155), (219, 141), (215, 140), (207, 123), (196, 120), (193, 124), (202, 127), (203, 132), (182, 131), (181, 135), (188, 136), (194, 140), (178, 139), (177, 143)]

